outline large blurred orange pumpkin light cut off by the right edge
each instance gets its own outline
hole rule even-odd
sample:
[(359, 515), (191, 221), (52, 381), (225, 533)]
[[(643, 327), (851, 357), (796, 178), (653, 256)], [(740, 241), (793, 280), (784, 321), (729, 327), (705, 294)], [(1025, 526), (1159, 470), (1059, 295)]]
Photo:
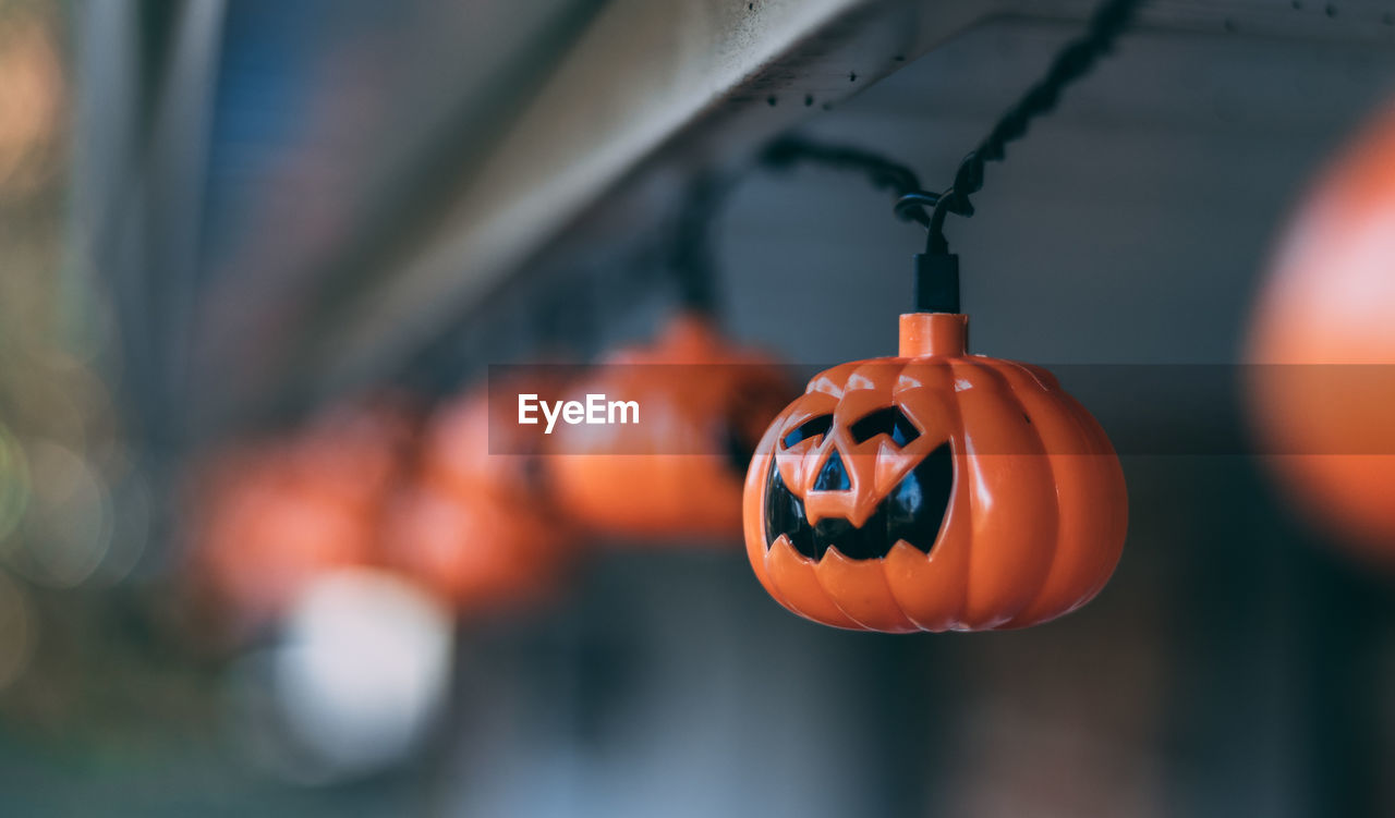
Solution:
[(1299, 208), (1247, 358), (1251, 415), (1288, 493), (1395, 566), (1395, 106)]

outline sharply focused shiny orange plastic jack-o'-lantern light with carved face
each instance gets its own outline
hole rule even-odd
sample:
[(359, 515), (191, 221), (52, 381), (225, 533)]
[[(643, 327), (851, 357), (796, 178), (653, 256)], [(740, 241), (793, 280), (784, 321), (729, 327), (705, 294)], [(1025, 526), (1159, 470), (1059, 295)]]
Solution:
[(1049, 372), (964, 353), (967, 318), (901, 318), (900, 358), (809, 382), (745, 489), (746, 553), (781, 605), (859, 630), (995, 630), (1088, 602), (1127, 497), (1095, 419)]

